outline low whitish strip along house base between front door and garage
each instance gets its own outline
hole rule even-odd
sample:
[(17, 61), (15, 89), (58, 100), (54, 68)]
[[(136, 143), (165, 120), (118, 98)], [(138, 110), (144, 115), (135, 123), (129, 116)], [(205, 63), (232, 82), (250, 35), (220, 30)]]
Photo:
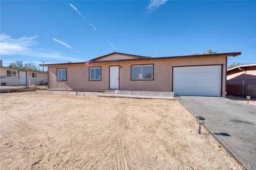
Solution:
[(129, 91), (129, 90), (116, 90), (116, 95), (174, 97), (174, 92), (172, 92), (172, 91)]

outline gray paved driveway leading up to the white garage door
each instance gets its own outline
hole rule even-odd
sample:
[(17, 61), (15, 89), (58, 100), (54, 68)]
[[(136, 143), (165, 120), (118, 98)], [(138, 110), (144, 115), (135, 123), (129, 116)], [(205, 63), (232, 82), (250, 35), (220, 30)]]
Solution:
[(256, 106), (222, 97), (180, 96), (180, 103), (247, 169), (256, 169)]

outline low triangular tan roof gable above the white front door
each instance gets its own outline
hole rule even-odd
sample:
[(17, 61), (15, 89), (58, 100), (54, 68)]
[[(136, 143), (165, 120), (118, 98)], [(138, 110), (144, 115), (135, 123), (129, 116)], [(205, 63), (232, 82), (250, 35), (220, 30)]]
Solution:
[(110, 53), (107, 55), (94, 58), (91, 61), (101, 62), (101, 61), (134, 60), (138, 58), (148, 58), (148, 57), (115, 52), (115, 53)]

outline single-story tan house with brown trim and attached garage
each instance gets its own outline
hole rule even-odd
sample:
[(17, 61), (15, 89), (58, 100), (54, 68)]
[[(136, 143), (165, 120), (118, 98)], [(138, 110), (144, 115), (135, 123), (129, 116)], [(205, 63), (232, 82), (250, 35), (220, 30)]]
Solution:
[(174, 91), (175, 95), (226, 95), (227, 57), (236, 53), (146, 57), (111, 53), (79, 63), (44, 64), (49, 90)]

